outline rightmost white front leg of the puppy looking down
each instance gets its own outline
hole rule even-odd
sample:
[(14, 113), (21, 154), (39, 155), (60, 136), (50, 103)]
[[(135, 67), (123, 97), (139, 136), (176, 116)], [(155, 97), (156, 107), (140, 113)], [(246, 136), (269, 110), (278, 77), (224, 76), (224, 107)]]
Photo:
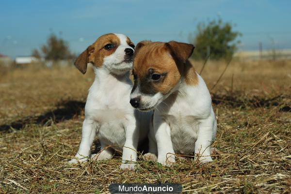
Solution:
[(213, 118), (200, 120), (197, 140), (195, 142), (195, 154), (198, 154), (202, 163), (212, 162), (210, 156), (210, 144), (213, 137)]

